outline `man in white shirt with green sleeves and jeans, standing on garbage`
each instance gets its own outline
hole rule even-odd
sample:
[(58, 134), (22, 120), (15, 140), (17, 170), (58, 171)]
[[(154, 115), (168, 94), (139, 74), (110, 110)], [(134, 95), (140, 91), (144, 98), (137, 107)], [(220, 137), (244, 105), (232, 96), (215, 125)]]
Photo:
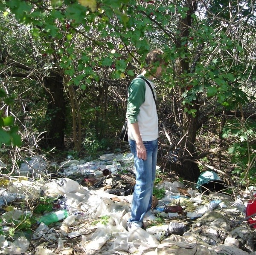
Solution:
[[(154, 101), (156, 98), (153, 79), (165, 71), (166, 63), (163, 51), (151, 50), (145, 59), (142, 73), (132, 80), (128, 88), (128, 137), (132, 154), (136, 184), (131, 205), (131, 218), (127, 230), (132, 231), (143, 226), (143, 218), (150, 214), (154, 179), (157, 166), (158, 117)], [(146, 79), (153, 89), (153, 93)]]

